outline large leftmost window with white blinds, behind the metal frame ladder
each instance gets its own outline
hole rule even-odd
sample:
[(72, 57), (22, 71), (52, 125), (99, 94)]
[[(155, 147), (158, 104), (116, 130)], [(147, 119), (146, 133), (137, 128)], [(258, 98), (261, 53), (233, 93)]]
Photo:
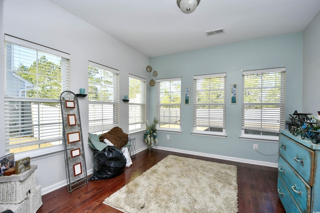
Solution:
[(6, 153), (62, 144), (60, 93), (69, 87), (69, 58), (4, 35)]

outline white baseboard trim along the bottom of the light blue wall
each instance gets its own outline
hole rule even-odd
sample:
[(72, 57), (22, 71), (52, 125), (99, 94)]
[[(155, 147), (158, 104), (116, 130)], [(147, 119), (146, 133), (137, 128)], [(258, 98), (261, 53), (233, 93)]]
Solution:
[(235, 161), (235, 162), (243, 162), (243, 163), (254, 164), (254, 165), (263, 165), (263, 166), (276, 167), (276, 168), (278, 167), (277, 163), (266, 162), (266, 161), (223, 156), (223, 155), (218, 155), (218, 154), (208, 154), (208, 153), (203, 153), (203, 152), (188, 151), (188, 150), (177, 149), (177, 148), (168, 148), (168, 147), (163, 147), (163, 146), (153, 146), (153, 148), (165, 150), (165, 151), (184, 153), (184, 154), (193, 154), (193, 155), (203, 156), (203, 157), (211, 157), (211, 158), (217, 158), (217, 159), (223, 159), (223, 160), (230, 160), (230, 161)]

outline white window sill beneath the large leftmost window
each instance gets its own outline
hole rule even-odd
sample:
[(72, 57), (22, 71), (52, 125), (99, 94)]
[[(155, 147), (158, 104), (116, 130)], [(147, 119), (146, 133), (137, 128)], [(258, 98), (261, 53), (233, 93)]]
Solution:
[(16, 159), (22, 159), (24, 157), (30, 157), (33, 160), (41, 159), (48, 156), (53, 156), (56, 154), (63, 153), (64, 147), (63, 144), (61, 145), (55, 145), (53, 147), (47, 147), (47, 148), (40, 148), (36, 150), (31, 151), (24, 151), (20, 153), (14, 153), (14, 157)]

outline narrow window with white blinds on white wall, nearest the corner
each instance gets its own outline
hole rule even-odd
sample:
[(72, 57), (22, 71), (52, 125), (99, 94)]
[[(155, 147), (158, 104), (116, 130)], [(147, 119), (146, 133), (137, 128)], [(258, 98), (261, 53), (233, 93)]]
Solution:
[(129, 133), (145, 129), (145, 79), (129, 74)]

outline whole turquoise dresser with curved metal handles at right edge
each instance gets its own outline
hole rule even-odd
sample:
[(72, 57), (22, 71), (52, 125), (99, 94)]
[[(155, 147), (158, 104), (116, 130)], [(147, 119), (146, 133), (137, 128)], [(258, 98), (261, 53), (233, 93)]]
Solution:
[(280, 131), (277, 191), (286, 212), (320, 213), (320, 144)]

